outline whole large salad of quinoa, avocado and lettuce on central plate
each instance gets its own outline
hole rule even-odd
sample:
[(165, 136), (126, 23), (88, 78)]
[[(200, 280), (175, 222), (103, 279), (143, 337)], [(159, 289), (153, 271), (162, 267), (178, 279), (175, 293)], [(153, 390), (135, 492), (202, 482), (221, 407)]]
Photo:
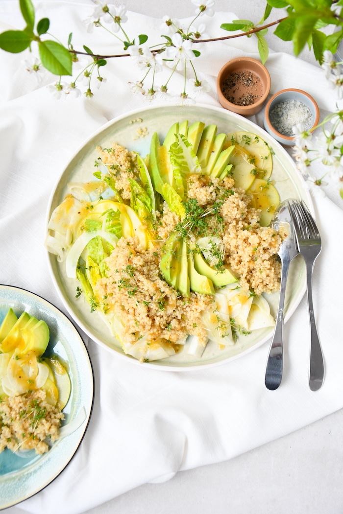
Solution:
[(209, 342), (274, 325), (262, 293), (279, 288), (282, 235), (260, 137), (183, 121), (145, 157), (116, 142), (97, 151), (94, 179), (70, 182), (53, 210), (46, 246), (125, 354), (201, 358)]

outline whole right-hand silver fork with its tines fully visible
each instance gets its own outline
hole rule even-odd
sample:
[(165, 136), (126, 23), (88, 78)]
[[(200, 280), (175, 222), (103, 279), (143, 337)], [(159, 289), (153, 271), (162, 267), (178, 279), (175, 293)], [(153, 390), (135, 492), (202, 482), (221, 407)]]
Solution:
[(317, 225), (303, 201), (288, 202), (300, 254), (306, 265), (307, 297), (310, 318), (311, 349), (309, 385), (311, 391), (320, 389), (324, 378), (324, 362), (314, 317), (312, 299), (312, 274), (315, 260), (321, 251), (321, 237)]

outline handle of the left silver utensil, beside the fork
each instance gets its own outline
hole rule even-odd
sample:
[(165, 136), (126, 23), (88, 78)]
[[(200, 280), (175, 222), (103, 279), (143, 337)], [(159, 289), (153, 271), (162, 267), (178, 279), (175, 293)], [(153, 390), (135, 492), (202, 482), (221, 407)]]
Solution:
[(264, 383), (267, 389), (275, 391), (280, 386), (283, 370), (283, 310), (286, 293), (286, 281), (291, 260), (285, 260), (281, 266), (280, 296), (272, 343), (267, 360)]

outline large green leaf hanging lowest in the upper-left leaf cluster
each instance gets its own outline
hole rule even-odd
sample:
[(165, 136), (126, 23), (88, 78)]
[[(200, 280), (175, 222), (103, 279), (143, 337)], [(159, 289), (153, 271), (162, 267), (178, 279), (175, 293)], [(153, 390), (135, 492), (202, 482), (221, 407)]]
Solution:
[(73, 63), (68, 50), (56, 41), (40, 41), (39, 54), (43, 66), (54, 75), (71, 75)]

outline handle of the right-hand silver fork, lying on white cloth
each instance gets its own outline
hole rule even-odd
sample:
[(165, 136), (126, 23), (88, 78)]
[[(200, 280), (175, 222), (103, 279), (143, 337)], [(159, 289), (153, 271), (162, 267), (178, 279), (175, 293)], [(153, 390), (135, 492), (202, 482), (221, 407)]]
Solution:
[(310, 346), (310, 370), (309, 370), (309, 386), (311, 391), (318, 391), (324, 378), (324, 361), (320, 347), (320, 341), (317, 333), (316, 321), (314, 317), (313, 299), (312, 299), (312, 272), (314, 261), (306, 263), (306, 282), (307, 297), (310, 318), (311, 346)]

